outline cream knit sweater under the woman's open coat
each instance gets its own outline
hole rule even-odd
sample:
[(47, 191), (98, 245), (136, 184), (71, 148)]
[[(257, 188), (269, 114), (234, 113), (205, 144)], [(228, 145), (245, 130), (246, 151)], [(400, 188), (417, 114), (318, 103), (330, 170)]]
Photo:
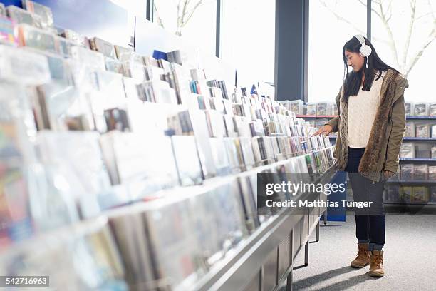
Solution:
[(357, 96), (348, 98), (348, 146), (350, 148), (366, 148), (375, 113), (380, 104), (380, 88), (385, 73), (383, 72), (377, 81), (378, 74), (375, 74), (370, 91), (363, 91), (360, 87)]

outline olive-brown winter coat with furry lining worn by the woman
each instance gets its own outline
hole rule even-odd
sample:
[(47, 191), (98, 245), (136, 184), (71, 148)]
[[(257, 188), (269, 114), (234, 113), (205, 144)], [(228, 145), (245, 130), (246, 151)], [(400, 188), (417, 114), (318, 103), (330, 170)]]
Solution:
[[(388, 70), (380, 89), (380, 106), (358, 168), (361, 175), (374, 182), (383, 179), (385, 170), (393, 173), (398, 170), (398, 153), (405, 131), (405, 88), (408, 88), (408, 80)], [(326, 124), (333, 127), (333, 132), (338, 131), (334, 157), (338, 160), (338, 169), (345, 170), (348, 161), (348, 103), (343, 98), (343, 90), (336, 96), (336, 104), (339, 116)]]

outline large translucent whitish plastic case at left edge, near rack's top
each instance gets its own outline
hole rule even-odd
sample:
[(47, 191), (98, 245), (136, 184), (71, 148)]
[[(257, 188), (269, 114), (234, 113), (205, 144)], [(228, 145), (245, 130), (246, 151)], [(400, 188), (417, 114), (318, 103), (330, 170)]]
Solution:
[(38, 85), (51, 80), (46, 56), (0, 46), (0, 79), (25, 85)]

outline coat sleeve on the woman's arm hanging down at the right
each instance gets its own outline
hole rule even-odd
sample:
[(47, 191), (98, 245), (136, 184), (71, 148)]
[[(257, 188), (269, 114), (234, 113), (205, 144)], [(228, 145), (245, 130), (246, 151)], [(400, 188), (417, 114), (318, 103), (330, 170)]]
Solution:
[(403, 79), (397, 88), (395, 94), (400, 95), (393, 103), (392, 108), (392, 131), (388, 140), (388, 151), (386, 153), (386, 163), (384, 170), (397, 173), (398, 154), (400, 153), (401, 142), (405, 131), (405, 110), (404, 110), (404, 90), (408, 87), (408, 81)]

